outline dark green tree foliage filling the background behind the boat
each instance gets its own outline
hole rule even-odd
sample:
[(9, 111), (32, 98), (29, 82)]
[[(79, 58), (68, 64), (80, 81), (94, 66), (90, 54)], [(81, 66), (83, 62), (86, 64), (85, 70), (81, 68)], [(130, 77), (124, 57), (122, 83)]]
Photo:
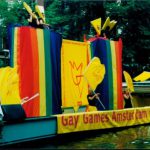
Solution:
[[(31, 0), (24, 1), (34, 11), (35, 3)], [(0, 37), (4, 39), (7, 37), (6, 27), (9, 24), (27, 25), (29, 17), (23, 8), (23, 1), (15, 0), (11, 5), (8, 2), (0, 2)], [(123, 40), (123, 64), (140, 66), (150, 63), (149, 0), (121, 0), (120, 4), (115, 0), (46, 0), (45, 4), (46, 23), (55, 31), (61, 32), (63, 38), (70, 40), (82, 41), (84, 34), (94, 36), (96, 33), (90, 21), (101, 17), (103, 24), (109, 16), (111, 20), (117, 21), (111, 36), (121, 37)], [(119, 33), (119, 30), (122, 32)]]

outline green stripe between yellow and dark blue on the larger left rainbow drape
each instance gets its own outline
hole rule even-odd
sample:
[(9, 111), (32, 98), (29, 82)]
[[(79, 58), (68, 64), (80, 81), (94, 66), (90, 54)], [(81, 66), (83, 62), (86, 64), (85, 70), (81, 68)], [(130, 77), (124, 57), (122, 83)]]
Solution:
[(50, 31), (44, 30), (45, 78), (46, 78), (46, 115), (52, 114), (52, 66), (50, 54)]

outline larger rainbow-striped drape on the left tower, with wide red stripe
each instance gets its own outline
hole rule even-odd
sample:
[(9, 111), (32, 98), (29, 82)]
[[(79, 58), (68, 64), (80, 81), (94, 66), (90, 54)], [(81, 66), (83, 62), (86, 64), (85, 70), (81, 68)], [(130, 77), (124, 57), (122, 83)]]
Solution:
[(10, 65), (18, 69), (21, 99), (31, 98), (23, 104), (27, 117), (60, 113), (61, 99), (55, 95), (61, 95), (61, 35), (23, 26), (12, 27), (10, 39)]

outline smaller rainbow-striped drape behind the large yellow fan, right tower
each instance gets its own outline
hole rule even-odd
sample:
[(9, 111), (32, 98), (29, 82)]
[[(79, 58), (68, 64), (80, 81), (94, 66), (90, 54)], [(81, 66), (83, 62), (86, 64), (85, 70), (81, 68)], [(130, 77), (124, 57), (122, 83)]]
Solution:
[(91, 56), (99, 57), (106, 67), (104, 80), (96, 92), (101, 93), (101, 101), (107, 110), (122, 109), (122, 41), (94, 38), (90, 42)]

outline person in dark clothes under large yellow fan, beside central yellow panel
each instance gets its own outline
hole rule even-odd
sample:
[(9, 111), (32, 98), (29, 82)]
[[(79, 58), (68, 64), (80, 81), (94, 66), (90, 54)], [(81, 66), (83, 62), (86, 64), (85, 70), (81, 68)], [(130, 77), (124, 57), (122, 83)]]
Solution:
[(89, 91), (87, 99), (90, 106), (95, 106), (97, 110), (101, 110), (101, 104), (99, 102), (100, 93), (94, 93), (92, 90)]

